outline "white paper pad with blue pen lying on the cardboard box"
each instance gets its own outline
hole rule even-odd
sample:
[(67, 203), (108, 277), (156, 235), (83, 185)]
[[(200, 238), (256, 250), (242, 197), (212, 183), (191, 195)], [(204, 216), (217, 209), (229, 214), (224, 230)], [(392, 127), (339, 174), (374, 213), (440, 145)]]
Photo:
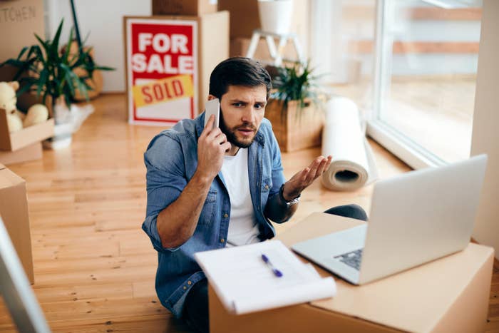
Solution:
[[(282, 272), (276, 277), (262, 254)], [(278, 240), (197, 252), (195, 259), (228, 312), (245, 314), (333, 297), (336, 283), (321, 278)]]

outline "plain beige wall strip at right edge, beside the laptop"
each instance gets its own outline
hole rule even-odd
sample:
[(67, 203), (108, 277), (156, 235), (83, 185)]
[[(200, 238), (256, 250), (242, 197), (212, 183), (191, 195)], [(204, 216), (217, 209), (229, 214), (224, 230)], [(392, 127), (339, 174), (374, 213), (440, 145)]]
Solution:
[(499, 1), (483, 1), (482, 32), (471, 155), (488, 154), (487, 173), (473, 237), (499, 258)]

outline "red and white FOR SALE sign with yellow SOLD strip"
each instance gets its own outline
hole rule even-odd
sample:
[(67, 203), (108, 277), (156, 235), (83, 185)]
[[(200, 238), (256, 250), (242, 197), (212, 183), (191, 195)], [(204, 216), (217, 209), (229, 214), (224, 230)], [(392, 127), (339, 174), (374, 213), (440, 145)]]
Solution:
[(197, 21), (125, 19), (130, 123), (173, 125), (197, 113)]

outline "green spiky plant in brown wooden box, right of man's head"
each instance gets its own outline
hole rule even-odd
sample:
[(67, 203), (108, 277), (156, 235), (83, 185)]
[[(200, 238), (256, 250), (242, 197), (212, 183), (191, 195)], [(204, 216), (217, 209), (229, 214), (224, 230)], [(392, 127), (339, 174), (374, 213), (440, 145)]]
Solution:
[(272, 78), (274, 91), (265, 109), (279, 147), (284, 152), (321, 144), (324, 108), (317, 76), (309, 63), (277, 68)]

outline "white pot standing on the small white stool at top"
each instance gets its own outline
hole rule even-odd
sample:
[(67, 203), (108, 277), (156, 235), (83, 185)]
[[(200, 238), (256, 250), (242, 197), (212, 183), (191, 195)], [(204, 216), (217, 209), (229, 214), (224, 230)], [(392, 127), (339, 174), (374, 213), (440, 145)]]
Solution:
[(289, 34), (293, 16), (293, 0), (258, 0), (262, 31)]

